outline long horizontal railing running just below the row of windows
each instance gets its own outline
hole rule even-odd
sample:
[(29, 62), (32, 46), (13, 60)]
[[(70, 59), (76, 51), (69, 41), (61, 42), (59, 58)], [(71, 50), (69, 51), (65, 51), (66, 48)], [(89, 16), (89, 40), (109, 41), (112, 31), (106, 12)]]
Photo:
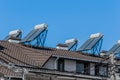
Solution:
[(43, 73), (43, 74), (52, 74), (58, 76), (67, 76), (67, 77), (81, 77), (86, 79), (107, 79), (108, 76), (101, 75), (91, 75), (86, 73), (77, 73), (77, 72), (68, 72), (68, 71), (57, 71), (51, 69), (38, 69), (38, 70), (29, 70), (31, 73)]

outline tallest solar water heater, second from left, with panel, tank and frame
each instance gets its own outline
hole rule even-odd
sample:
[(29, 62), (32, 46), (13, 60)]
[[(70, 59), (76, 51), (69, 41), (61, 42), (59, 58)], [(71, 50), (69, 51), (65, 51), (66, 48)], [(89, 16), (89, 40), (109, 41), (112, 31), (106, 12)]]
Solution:
[(30, 31), (28, 35), (21, 40), (20, 43), (32, 44), (33, 42), (35, 46), (44, 46), (48, 32), (47, 28), (48, 25), (45, 23), (36, 25), (34, 29)]

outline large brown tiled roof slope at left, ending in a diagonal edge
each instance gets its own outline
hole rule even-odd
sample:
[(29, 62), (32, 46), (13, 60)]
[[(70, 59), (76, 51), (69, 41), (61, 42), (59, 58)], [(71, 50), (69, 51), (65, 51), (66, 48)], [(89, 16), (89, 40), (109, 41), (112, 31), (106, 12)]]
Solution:
[(42, 67), (51, 57), (51, 54), (6, 41), (0, 41), (0, 47), (0, 56), (3, 56), (1, 59), (21, 66)]

